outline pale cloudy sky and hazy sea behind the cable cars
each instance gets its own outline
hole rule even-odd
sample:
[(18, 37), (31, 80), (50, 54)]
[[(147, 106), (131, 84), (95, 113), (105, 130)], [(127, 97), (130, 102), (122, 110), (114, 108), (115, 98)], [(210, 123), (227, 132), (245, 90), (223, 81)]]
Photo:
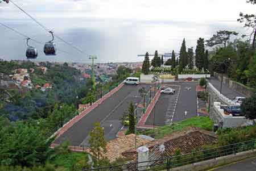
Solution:
[[(208, 39), (218, 30), (249, 32), (237, 22), (240, 12), (255, 14), (256, 5), (246, 0), (13, 0), (56, 35), (84, 53), (55, 40), (57, 56), (44, 56), (43, 45), (36, 61), (97, 62), (142, 61), (154, 54), (179, 52), (183, 38), (196, 47), (199, 37)], [(42, 43), (51, 35), (12, 3), (0, 3), (0, 22)], [(0, 58), (26, 59), (24, 37), (0, 26)], [(4, 34), (3, 34), (4, 33)], [(195, 49), (195, 48), (194, 48)]]

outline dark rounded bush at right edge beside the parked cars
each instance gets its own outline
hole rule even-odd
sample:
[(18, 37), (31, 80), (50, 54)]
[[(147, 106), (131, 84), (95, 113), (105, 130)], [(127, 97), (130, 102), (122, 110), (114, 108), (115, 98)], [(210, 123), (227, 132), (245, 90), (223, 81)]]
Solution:
[(241, 105), (242, 114), (248, 119), (256, 119), (256, 93), (246, 98)]

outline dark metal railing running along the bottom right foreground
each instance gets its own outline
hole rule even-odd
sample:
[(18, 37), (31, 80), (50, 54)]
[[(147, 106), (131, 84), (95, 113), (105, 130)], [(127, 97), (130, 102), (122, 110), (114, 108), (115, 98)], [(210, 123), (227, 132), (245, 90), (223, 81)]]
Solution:
[(215, 159), (217, 157), (228, 156), (239, 152), (249, 151), (256, 148), (256, 140), (243, 141), (242, 143), (225, 145), (218, 148), (196, 151), (185, 155), (175, 155), (166, 159), (150, 160), (144, 162), (133, 162), (123, 165), (112, 165), (102, 168), (83, 169), (82, 171), (98, 170), (172, 170), (179, 166), (193, 164), (195, 162)]

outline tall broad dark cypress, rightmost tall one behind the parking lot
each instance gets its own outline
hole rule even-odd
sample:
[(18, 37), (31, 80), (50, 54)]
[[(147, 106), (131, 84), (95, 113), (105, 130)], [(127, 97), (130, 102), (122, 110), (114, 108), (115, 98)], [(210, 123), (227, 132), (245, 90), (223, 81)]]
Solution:
[(204, 39), (200, 37), (199, 40), (197, 40), (197, 46), (196, 46), (196, 67), (199, 70), (204, 68), (204, 59), (205, 59), (204, 51), (205, 51)]

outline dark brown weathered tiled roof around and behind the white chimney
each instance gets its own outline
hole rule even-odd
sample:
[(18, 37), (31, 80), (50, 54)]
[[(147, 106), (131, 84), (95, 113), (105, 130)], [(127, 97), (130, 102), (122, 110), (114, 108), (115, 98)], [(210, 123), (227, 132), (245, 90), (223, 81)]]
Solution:
[[(180, 149), (181, 155), (191, 153), (193, 150), (202, 148), (204, 145), (213, 144), (216, 139), (217, 136), (213, 132), (189, 127), (183, 131), (174, 132), (162, 139), (150, 141), (145, 146), (150, 149), (150, 160), (156, 160), (175, 155), (177, 149)], [(160, 152), (160, 145), (164, 145), (164, 152)], [(137, 151), (133, 148), (123, 152), (122, 155), (133, 160), (137, 158)]]

